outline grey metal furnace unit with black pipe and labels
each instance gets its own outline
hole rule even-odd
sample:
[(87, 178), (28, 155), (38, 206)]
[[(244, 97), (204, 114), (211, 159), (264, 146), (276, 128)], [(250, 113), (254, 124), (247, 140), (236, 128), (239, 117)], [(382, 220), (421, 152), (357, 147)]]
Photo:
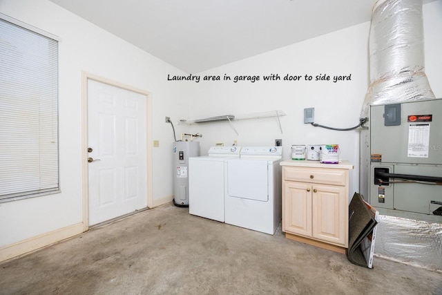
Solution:
[(442, 99), (369, 106), (361, 193), (381, 213), (442, 222)]

